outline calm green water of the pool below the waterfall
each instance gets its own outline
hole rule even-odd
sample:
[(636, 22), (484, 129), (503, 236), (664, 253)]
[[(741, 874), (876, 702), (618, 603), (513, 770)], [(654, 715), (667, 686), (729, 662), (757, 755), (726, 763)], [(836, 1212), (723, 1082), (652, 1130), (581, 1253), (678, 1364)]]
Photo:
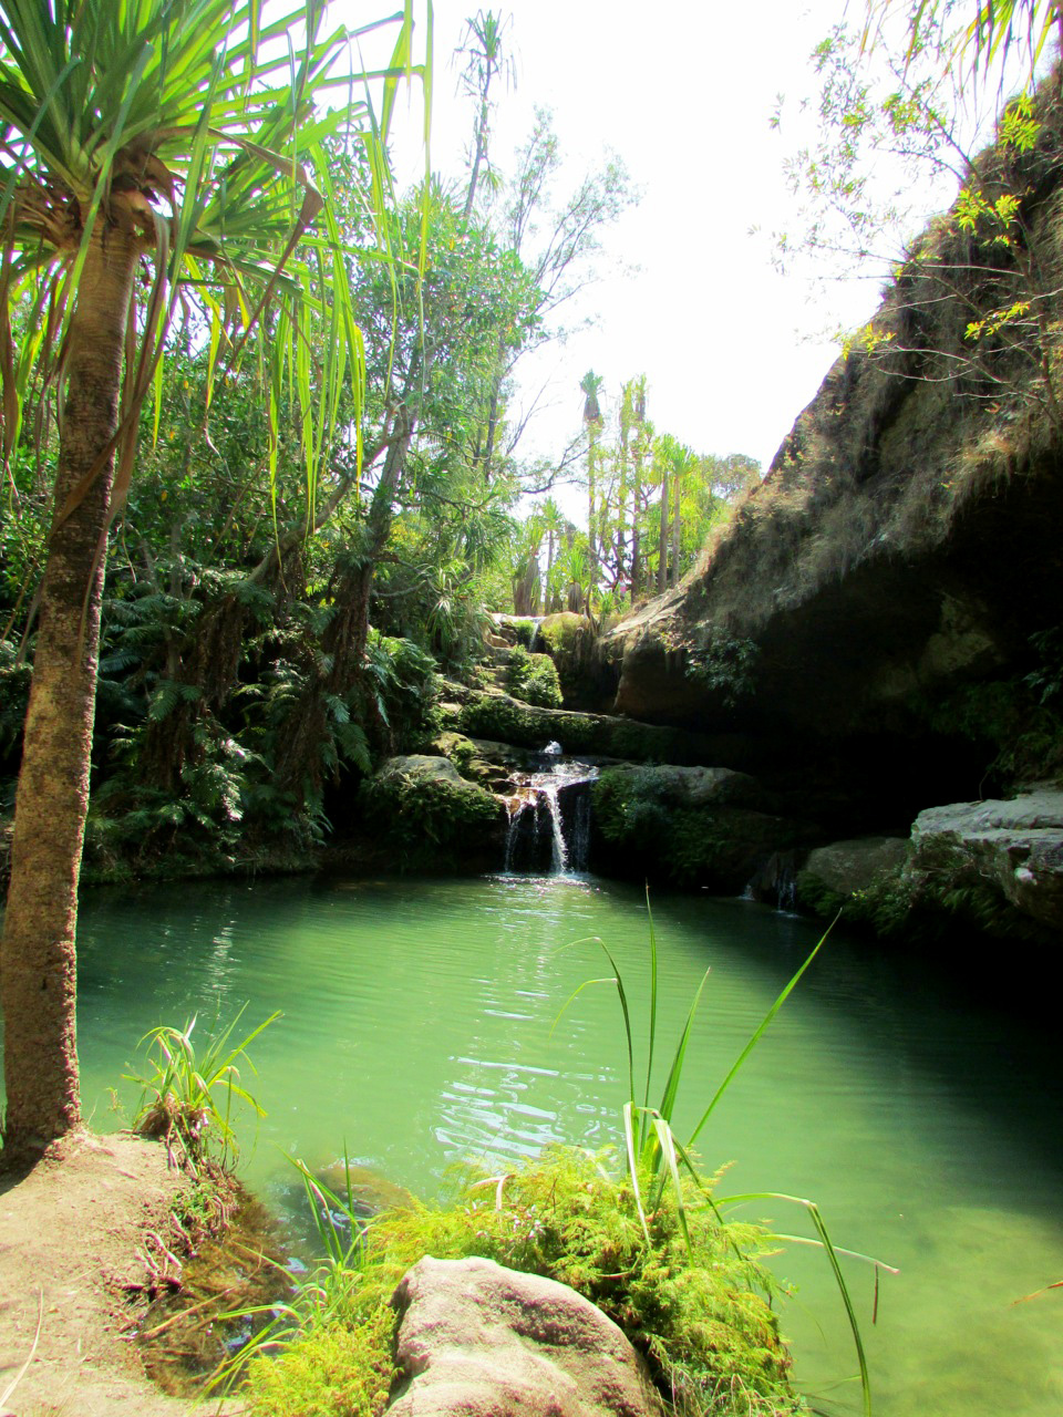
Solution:
[[(816, 931), (743, 901), (659, 897), (665, 1037), (706, 966), (685, 1077), (685, 1134)], [(615, 993), (587, 935), (645, 978), (634, 890), (490, 877), (315, 886), (181, 884), (94, 893), (81, 924), (86, 1108), (135, 1040), (198, 1010), (283, 1010), (258, 1043), (268, 1108), (248, 1179), (291, 1193), (281, 1151), (316, 1168), (351, 1156), (425, 1195), (466, 1156), (505, 1162), (551, 1141), (617, 1139), (625, 1054)], [(632, 992), (636, 992), (632, 988)], [(669, 1050), (670, 1051), (670, 1050)], [(958, 996), (914, 959), (835, 938), (703, 1134), (721, 1190), (818, 1200), (836, 1243), (900, 1267), (850, 1268), (880, 1417), (1056, 1417), (1063, 1410), (1063, 1144), (1057, 1044)], [(700, 1107), (699, 1107), (700, 1104)], [(797, 1207), (753, 1217), (809, 1233)], [(795, 1298), (784, 1328), (816, 1406), (859, 1410), (855, 1360), (821, 1255), (777, 1261)]]

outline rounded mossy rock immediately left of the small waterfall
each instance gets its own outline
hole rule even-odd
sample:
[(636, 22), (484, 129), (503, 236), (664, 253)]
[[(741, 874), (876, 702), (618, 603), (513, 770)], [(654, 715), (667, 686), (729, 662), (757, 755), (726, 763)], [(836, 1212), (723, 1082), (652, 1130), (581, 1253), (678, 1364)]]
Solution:
[(466, 782), (448, 758), (388, 758), (361, 785), (360, 805), (377, 843), (404, 870), (475, 867), (493, 854), (505, 805)]

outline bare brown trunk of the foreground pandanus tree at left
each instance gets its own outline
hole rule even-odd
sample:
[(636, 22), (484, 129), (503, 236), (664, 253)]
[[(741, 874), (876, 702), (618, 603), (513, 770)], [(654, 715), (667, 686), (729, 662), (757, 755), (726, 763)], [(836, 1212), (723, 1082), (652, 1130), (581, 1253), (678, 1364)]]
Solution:
[(113, 230), (94, 237), (69, 327), (55, 509), (41, 585), (0, 954), (4, 1151), (11, 1158), (33, 1156), (81, 1121), (75, 927), (113, 456), (75, 510), (61, 523), (58, 517), (118, 427), (135, 265), (132, 237)]

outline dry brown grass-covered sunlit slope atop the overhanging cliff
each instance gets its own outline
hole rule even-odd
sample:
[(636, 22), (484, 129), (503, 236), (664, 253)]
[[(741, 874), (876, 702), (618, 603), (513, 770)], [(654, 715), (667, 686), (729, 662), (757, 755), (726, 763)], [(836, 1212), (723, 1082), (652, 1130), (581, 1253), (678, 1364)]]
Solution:
[[(934, 218), (767, 480), (706, 547), (692, 588), (697, 614), (717, 628), (754, 633), (862, 561), (918, 557), (972, 502), (1054, 461), (1063, 441), (1057, 79), (1039, 94), (1036, 118), (1032, 152), (998, 145), (974, 167), (988, 201), (1019, 194), (1011, 245), (992, 220), (971, 231), (955, 207)], [(985, 329), (974, 337), (978, 320)]]

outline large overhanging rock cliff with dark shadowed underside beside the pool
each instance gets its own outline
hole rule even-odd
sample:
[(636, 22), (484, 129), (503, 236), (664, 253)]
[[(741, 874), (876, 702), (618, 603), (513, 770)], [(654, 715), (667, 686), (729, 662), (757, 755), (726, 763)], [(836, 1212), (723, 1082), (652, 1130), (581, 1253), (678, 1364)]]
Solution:
[[(1019, 194), (1023, 239), (1046, 262), (1036, 300), (1059, 320), (1053, 85), (1036, 145), (989, 149), (975, 180)], [(1022, 286), (1011, 261), (958, 213), (937, 218), (702, 564), (604, 643), (618, 713), (726, 740), (703, 761), (755, 772), (826, 840), (1063, 781), (1054, 346), (1046, 366), (1036, 346), (971, 334)], [(1026, 886), (1008, 891), (1019, 908)]]

